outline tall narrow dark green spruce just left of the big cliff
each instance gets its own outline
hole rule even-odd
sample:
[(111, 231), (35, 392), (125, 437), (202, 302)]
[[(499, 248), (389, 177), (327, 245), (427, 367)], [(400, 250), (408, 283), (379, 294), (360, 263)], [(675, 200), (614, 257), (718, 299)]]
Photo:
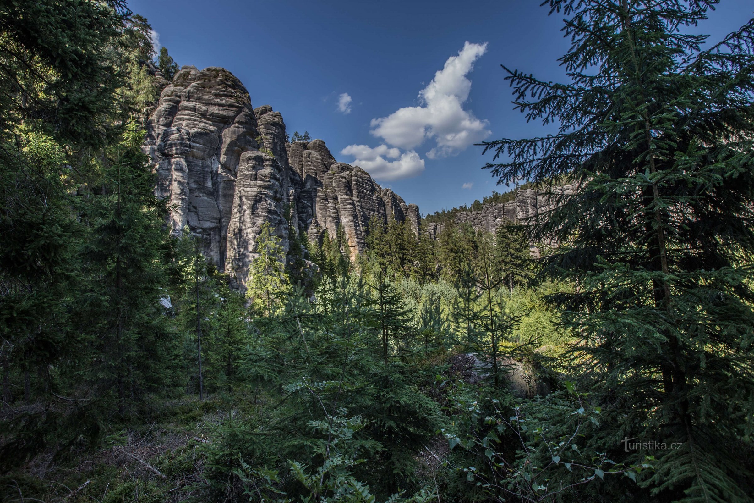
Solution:
[(154, 195), (143, 134), (132, 124), (108, 149), (102, 193), (83, 201), (80, 213), (90, 233), (84, 247), (86, 331), (94, 349), (88, 378), (100, 394), (115, 397), (121, 416), (149, 394), (164, 394), (177, 371), (177, 334), (161, 304), (171, 246), (163, 228), (167, 208)]

